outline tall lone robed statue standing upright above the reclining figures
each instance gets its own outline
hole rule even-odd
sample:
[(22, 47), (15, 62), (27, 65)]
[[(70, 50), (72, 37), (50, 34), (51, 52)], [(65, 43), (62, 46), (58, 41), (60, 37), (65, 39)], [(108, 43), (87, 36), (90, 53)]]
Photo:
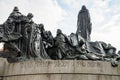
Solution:
[(81, 36), (86, 40), (90, 41), (90, 34), (91, 34), (91, 22), (90, 22), (90, 14), (88, 9), (85, 6), (82, 6), (78, 14), (77, 20), (77, 32), (81, 33)]

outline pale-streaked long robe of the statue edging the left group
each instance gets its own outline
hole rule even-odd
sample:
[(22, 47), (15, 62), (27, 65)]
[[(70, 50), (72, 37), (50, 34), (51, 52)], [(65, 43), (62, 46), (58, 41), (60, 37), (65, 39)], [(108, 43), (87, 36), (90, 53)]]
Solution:
[(37, 24), (33, 23), (31, 25), (31, 33), (29, 34), (29, 46), (28, 46), (28, 55), (29, 58), (37, 59), (50, 59), (48, 54), (45, 51), (41, 32)]

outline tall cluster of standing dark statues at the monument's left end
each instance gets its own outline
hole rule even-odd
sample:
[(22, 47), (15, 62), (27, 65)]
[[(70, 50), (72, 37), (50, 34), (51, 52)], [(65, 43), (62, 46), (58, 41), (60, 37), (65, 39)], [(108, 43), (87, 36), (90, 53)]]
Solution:
[(41, 30), (15, 7), (3, 25), (0, 25), (0, 41), (4, 42), (4, 53), (9, 62), (29, 59), (49, 59), (41, 37)]

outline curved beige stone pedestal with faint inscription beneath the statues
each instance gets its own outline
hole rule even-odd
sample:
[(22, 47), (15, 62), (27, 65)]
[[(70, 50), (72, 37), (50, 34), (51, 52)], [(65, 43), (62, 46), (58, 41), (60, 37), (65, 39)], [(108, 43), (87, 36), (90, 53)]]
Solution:
[(120, 66), (85, 60), (0, 61), (1, 80), (120, 80)]

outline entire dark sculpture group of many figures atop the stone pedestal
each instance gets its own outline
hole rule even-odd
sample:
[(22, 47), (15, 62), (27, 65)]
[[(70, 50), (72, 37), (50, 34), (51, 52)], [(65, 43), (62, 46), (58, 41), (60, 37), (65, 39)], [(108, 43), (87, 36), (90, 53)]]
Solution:
[(77, 31), (66, 35), (57, 29), (56, 37), (51, 31), (46, 31), (43, 24), (36, 24), (33, 14), (27, 16), (13, 9), (8, 19), (0, 25), (0, 41), (4, 42), (4, 51), (0, 57), (9, 62), (32, 59), (53, 60), (102, 60), (111, 61), (117, 66), (120, 61), (120, 51), (111, 44), (90, 40), (91, 21), (88, 9), (82, 6), (78, 14)]

